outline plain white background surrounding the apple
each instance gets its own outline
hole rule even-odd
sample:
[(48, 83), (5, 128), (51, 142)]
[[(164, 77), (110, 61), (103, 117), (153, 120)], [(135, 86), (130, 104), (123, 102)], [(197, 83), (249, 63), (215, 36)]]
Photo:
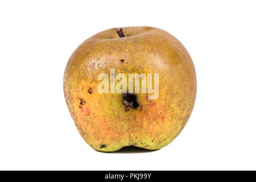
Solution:
[[(256, 169), (255, 1), (1, 1), (0, 169)], [(153, 26), (187, 48), (196, 104), (158, 151), (97, 152), (65, 104), (64, 68), (85, 39)]]

